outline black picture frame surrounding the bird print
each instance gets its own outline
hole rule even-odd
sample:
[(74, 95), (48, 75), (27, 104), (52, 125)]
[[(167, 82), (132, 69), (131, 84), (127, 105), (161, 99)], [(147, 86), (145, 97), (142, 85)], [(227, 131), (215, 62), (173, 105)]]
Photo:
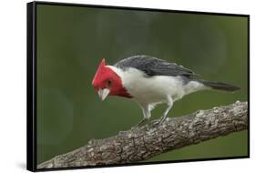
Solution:
[(225, 13), (211, 13), (198, 11), (181, 11), (169, 9), (151, 9), (141, 7), (123, 7), (123, 6), (109, 6), (109, 5), (83, 5), (71, 3), (53, 3), (53, 2), (31, 2), (27, 3), (26, 8), (26, 28), (27, 28), (27, 87), (26, 87), (26, 168), (30, 171), (45, 171), (45, 170), (64, 170), (75, 168), (36, 168), (36, 6), (37, 5), (61, 5), (61, 6), (80, 6), (80, 7), (97, 7), (108, 9), (123, 9), (123, 10), (138, 10), (150, 12), (166, 12), (166, 13), (182, 13), (182, 14), (198, 14), (198, 15), (223, 15), (223, 16), (242, 16), (248, 19), (248, 154), (241, 157), (227, 157), (227, 158), (202, 158), (202, 159), (187, 159), (178, 161), (158, 161), (147, 163), (129, 163), (123, 165), (108, 165), (108, 166), (88, 166), (76, 168), (106, 168), (119, 166), (133, 166), (133, 165), (147, 165), (160, 163), (176, 163), (187, 161), (206, 161), (216, 159), (231, 159), (231, 158), (250, 158), (250, 15), (239, 14), (225, 14)]

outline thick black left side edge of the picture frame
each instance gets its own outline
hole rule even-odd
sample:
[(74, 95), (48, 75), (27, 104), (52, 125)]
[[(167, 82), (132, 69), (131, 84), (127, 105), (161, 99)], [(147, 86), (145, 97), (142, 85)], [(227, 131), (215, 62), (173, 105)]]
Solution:
[(36, 3), (26, 4), (26, 169), (36, 171), (35, 107)]

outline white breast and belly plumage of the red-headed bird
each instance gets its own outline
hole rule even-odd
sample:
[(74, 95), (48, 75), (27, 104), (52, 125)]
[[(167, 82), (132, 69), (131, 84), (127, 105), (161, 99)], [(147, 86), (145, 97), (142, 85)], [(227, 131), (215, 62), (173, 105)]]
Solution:
[(192, 81), (184, 86), (180, 76), (146, 76), (136, 68), (125, 71), (109, 66), (122, 78), (128, 93), (141, 105), (166, 102), (167, 97), (173, 101), (193, 92), (200, 87), (199, 82)]

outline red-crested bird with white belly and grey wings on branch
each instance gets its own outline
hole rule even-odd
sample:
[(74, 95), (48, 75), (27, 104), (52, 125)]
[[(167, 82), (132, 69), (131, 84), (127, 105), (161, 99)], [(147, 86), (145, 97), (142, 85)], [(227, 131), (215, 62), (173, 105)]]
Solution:
[(162, 124), (173, 103), (200, 90), (215, 89), (234, 92), (240, 89), (226, 83), (200, 79), (189, 68), (169, 63), (154, 56), (129, 56), (113, 66), (103, 58), (92, 80), (101, 101), (108, 96), (128, 98), (138, 103), (143, 118), (135, 127), (148, 122), (151, 111), (159, 104), (167, 104), (156, 125)]

